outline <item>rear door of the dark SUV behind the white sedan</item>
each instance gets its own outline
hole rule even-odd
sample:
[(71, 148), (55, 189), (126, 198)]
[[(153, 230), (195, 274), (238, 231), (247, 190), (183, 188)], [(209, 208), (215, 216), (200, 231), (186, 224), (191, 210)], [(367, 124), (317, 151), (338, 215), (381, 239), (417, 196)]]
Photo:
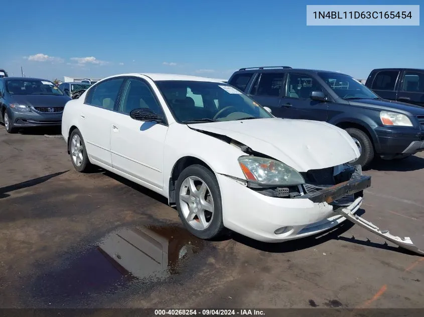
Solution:
[(286, 109), (280, 107), (285, 72), (260, 73), (256, 76), (249, 96), (263, 107), (271, 109), (275, 117), (286, 117)]

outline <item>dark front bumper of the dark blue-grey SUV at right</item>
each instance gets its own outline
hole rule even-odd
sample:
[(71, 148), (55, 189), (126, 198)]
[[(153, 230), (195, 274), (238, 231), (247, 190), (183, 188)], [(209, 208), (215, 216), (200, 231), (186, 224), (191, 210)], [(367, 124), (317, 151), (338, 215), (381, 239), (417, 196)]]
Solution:
[(377, 127), (376, 152), (387, 158), (406, 156), (424, 150), (424, 131), (416, 128)]

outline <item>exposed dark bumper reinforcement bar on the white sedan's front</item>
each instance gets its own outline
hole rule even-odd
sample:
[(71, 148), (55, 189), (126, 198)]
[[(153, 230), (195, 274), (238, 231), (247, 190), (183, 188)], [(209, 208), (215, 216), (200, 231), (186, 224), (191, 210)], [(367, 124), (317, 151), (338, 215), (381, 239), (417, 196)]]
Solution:
[(313, 202), (331, 203), (343, 196), (351, 195), (371, 186), (371, 176), (359, 176), (346, 182), (319, 190), (310, 194), (297, 196), (295, 199), (309, 199)]

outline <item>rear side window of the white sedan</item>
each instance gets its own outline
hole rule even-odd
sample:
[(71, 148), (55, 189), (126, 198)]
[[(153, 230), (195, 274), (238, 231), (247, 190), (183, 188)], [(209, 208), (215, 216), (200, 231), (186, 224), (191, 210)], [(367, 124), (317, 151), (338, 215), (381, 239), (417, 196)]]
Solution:
[(113, 110), (123, 79), (111, 79), (100, 83), (90, 96), (90, 104), (104, 109)]

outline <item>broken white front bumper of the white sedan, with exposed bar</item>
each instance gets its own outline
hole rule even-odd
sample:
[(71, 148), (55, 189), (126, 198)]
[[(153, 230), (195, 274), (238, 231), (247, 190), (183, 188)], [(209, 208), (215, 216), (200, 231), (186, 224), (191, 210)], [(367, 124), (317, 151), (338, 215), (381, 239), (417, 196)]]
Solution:
[[(276, 198), (253, 191), (228, 176), (218, 174), (217, 179), (224, 226), (264, 242), (298, 239), (340, 224), (346, 218), (336, 213), (328, 202), (370, 186), (370, 176), (361, 176), (299, 198)], [(362, 197), (358, 197), (349, 206), (352, 213), (361, 204)], [(276, 234), (277, 229), (282, 233)]]

